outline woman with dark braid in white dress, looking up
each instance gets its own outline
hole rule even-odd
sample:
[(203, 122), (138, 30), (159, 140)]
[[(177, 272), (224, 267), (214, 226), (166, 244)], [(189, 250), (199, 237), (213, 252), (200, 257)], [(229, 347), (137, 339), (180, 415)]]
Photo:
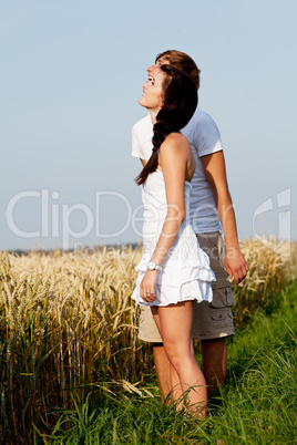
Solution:
[(195, 159), (178, 131), (197, 106), (193, 81), (162, 65), (143, 85), (139, 103), (154, 124), (153, 153), (136, 178), (143, 186), (144, 255), (132, 298), (150, 304), (171, 362), (172, 396), (187, 393), (191, 411), (206, 414), (207, 393), (192, 344), (193, 300), (212, 301), (215, 279), (190, 224), (188, 204)]

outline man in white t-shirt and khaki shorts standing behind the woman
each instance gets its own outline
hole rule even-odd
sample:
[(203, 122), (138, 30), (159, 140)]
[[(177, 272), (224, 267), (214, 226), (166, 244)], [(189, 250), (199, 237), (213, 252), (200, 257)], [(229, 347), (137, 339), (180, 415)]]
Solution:
[[(157, 55), (155, 64), (146, 70), (148, 77), (153, 77), (158, 66), (165, 63), (187, 73), (197, 90), (199, 89), (199, 70), (195, 62), (181, 51), (165, 51)], [(208, 255), (211, 268), (216, 275), (213, 302), (194, 303), (193, 314), (193, 338), (202, 342), (203, 372), (208, 392), (212, 393), (225, 381), (226, 337), (234, 334), (231, 309), (234, 298), (227, 275), (234, 277), (237, 284), (245, 278), (248, 267), (239, 249), (218, 128), (209, 115), (197, 108), (182, 133), (187, 137), (196, 161), (196, 170), (192, 179), (191, 218), (199, 246)], [(152, 136), (153, 125), (147, 115), (132, 128), (132, 155), (139, 157), (143, 165), (152, 154)], [(172, 390), (173, 371), (148, 307), (142, 307), (139, 338), (153, 343), (158, 387), (164, 400)]]

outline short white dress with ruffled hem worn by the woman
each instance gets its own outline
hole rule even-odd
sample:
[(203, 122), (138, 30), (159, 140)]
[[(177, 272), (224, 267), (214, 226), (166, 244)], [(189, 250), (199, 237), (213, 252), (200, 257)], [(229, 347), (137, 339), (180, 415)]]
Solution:
[(144, 255), (136, 266), (139, 272), (132, 298), (139, 304), (168, 306), (187, 300), (213, 300), (212, 281), (215, 275), (207, 255), (199, 248), (197, 237), (190, 221), (191, 184), (185, 183), (186, 217), (177, 237), (162, 263), (155, 286), (156, 299), (147, 303), (140, 296), (140, 284), (152, 258), (167, 213), (165, 184), (160, 169), (148, 175), (142, 187), (144, 207), (143, 247)]

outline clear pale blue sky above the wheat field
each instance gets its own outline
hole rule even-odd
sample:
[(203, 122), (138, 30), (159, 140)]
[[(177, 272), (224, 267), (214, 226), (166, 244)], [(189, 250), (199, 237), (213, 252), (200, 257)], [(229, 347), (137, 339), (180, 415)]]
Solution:
[(131, 127), (167, 49), (202, 70), (239, 238), (296, 239), (296, 17), (295, 0), (1, 2), (0, 249), (141, 239)]

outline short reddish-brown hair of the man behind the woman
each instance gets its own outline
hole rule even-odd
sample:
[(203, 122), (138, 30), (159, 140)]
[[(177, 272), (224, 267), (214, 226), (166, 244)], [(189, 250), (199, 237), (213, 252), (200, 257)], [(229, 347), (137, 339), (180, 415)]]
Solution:
[(158, 61), (158, 59), (164, 58), (168, 61), (171, 65), (176, 68), (178, 71), (183, 71), (190, 77), (193, 80), (193, 82), (196, 85), (196, 89), (199, 89), (201, 85), (201, 77), (199, 73), (201, 70), (197, 68), (196, 63), (194, 60), (187, 55), (186, 53), (182, 51), (176, 51), (176, 50), (167, 50), (162, 52), (161, 54), (157, 54), (155, 62)]

